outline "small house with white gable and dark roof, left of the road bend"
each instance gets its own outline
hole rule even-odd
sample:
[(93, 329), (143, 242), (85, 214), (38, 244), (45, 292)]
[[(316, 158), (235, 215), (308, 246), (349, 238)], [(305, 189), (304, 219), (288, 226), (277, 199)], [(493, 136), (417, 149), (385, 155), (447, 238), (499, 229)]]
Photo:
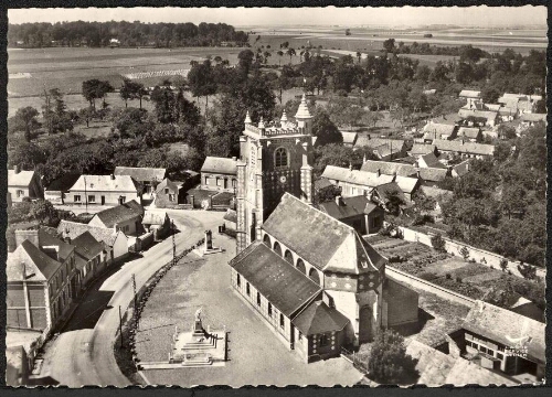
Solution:
[(88, 222), (89, 226), (121, 230), (127, 236), (136, 236), (144, 232), (141, 221), (144, 207), (136, 201), (117, 205), (96, 213)]

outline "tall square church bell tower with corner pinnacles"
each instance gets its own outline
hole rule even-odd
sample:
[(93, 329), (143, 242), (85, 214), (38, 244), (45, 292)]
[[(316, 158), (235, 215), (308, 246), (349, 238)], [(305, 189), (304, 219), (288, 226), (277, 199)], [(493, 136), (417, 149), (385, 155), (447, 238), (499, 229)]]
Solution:
[(237, 163), (237, 253), (261, 238), (261, 226), (288, 192), (312, 204), (312, 116), (302, 95), (296, 122), (284, 111), (277, 126), (250, 112), (240, 137)]

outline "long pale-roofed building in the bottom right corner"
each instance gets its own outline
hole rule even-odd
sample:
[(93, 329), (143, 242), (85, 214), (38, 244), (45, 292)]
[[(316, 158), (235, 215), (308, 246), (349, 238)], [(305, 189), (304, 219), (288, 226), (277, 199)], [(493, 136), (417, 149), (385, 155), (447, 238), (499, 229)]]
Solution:
[(544, 323), (478, 300), (461, 328), (458, 344), (471, 362), (512, 377), (544, 377)]

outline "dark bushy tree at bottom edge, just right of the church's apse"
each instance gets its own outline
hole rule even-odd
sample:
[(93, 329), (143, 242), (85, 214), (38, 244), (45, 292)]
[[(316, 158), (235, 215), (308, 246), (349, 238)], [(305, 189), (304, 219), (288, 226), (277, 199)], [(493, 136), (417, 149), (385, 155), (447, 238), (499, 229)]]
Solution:
[(404, 337), (395, 331), (380, 330), (369, 356), (369, 376), (380, 384), (405, 384), (416, 377), (416, 362), (406, 354)]

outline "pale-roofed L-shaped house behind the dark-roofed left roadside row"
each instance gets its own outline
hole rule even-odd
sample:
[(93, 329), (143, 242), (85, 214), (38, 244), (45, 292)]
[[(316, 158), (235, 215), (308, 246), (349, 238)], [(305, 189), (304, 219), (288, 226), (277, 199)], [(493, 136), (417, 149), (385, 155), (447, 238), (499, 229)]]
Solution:
[(107, 266), (128, 256), (128, 237), (121, 230), (115, 232), (113, 228), (96, 227), (64, 219), (57, 225), (57, 235), (63, 239), (74, 240), (86, 232), (89, 232), (97, 242), (104, 243)]

